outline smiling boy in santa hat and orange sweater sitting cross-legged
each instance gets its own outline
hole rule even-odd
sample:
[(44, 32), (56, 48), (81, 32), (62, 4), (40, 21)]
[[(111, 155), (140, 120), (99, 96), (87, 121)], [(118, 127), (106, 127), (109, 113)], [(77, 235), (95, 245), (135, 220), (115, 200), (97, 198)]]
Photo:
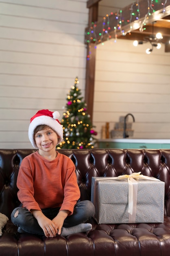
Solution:
[(39, 110), (32, 118), (28, 137), (35, 153), (26, 156), (20, 165), (17, 187), (22, 207), (11, 213), (18, 232), (46, 237), (56, 234), (86, 232), (85, 223), (94, 215), (94, 205), (86, 200), (77, 202), (80, 190), (72, 160), (56, 151), (63, 139), (59, 112)]

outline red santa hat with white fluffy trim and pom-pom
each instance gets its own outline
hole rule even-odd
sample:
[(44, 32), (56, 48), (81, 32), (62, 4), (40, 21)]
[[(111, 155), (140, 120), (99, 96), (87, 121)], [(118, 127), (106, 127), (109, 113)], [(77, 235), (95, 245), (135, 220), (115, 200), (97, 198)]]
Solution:
[(59, 136), (58, 144), (63, 140), (63, 127), (58, 120), (59, 116), (60, 114), (58, 111), (51, 112), (48, 109), (43, 109), (39, 110), (33, 117), (31, 117), (28, 128), (28, 137), (34, 148), (37, 148), (34, 141), (34, 131), (39, 125), (50, 126)]

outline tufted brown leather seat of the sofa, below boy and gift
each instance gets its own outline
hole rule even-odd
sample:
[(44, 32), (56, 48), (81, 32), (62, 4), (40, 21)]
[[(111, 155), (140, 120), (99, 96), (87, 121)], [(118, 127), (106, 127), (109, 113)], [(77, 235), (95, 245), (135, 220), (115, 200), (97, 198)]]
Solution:
[(8, 221), (0, 240), (0, 250), (4, 252), (6, 248), (11, 248), (8, 249), (11, 255), (18, 255), (19, 251), (20, 256), (45, 253), (53, 256), (56, 251), (57, 255), (62, 256), (67, 256), (68, 251), (70, 256), (75, 256), (75, 251), (76, 255), (81, 256), (103, 256), (106, 250), (107, 256), (169, 256), (170, 217), (165, 216), (163, 223), (93, 224), (92, 230), (87, 234), (66, 237), (57, 235), (55, 238), (19, 234), (17, 227)]

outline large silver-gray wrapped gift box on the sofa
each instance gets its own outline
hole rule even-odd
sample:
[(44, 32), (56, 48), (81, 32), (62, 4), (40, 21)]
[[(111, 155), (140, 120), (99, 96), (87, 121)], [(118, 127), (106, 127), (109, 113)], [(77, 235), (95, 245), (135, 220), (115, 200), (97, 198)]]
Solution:
[[(135, 180), (132, 199), (129, 198), (128, 178), (92, 177), (91, 201), (96, 209), (95, 219), (98, 224), (162, 223), (165, 183), (153, 177), (148, 178), (152, 180)], [(131, 203), (133, 212), (129, 213)]]

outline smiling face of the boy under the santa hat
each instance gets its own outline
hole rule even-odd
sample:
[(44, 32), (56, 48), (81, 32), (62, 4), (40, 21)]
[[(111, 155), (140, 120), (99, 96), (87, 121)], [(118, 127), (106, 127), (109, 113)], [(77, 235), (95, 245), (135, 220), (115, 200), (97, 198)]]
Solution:
[(44, 130), (39, 130), (34, 135), (35, 143), (39, 150), (49, 151), (56, 148), (58, 144), (58, 135), (52, 128), (46, 126)]

